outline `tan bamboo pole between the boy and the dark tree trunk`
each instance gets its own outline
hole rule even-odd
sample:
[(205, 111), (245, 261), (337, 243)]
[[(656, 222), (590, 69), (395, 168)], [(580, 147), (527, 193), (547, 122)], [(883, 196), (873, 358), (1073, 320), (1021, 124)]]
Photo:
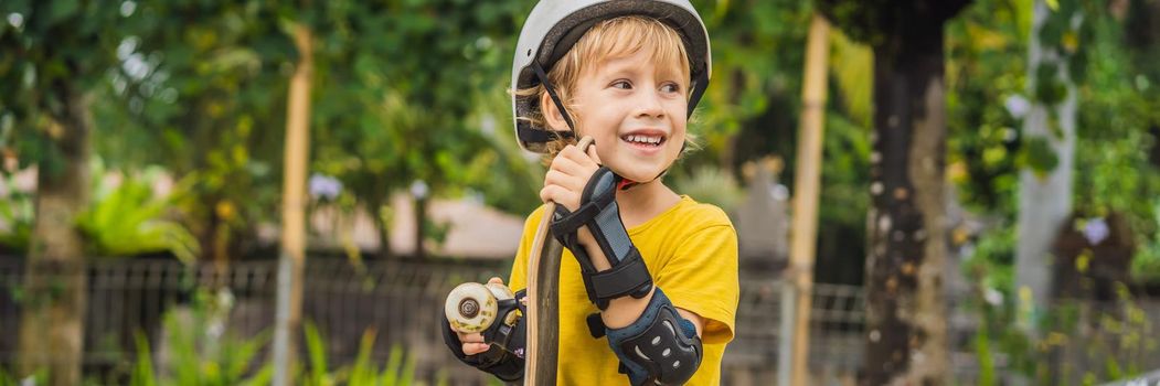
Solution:
[[(789, 366), (782, 367), (783, 385), (806, 385), (810, 359), (810, 307), (813, 293), (813, 261), (818, 234), (818, 194), (821, 180), (821, 138), (826, 109), (826, 71), (829, 56), (829, 23), (818, 14), (810, 22), (805, 83), (802, 89), (802, 123), (798, 128), (797, 170), (793, 181), (792, 238), (786, 278), (792, 289), (792, 340)], [(790, 330), (783, 328), (783, 330)], [(784, 362), (783, 362), (784, 364)]]

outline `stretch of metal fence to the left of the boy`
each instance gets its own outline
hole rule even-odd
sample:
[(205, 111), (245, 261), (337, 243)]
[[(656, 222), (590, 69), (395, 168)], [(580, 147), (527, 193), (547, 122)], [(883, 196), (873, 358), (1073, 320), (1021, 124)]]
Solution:
[[(94, 260), (86, 270), (85, 372), (125, 371), (135, 360), (135, 334), (162, 341), (162, 316), (188, 311), (197, 289), (225, 290), (220, 293), (232, 298), (226, 322), (230, 336), (249, 338), (270, 330), (276, 267), (276, 261), (235, 262), (220, 270), (212, 264), (187, 267), (169, 260)], [(372, 328), (377, 332), (376, 360), (385, 360), (391, 347), (400, 345), (415, 358), (418, 379), (483, 383), (484, 377), (457, 365), (447, 354), (436, 318), (452, 286), (506, 277), (507, 269), (498, 262), (355, 265), (346, 260), (311, 258), (304, 275), (303, 320), (314, 322), (326, 337), (332, 365), (353, 362), (361, 336)], [(0, 257), (0, 330), (8, 332), (0, 334), (0, 364), (16, 359), (16, 298), (23, 275), (19, 258)]]

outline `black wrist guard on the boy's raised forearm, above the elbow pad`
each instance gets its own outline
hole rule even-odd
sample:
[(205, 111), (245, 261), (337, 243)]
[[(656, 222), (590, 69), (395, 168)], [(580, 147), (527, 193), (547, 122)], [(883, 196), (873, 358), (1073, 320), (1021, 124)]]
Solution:
[[(621, 211), (616, 205), (616, 187), (621, 176), (607, 167), (601, 167), (592, 175), (580, 196), (580, 207), (570, 212), (563, 205), (556, 206), (552, 213), (552, 234), (561, 245), (572, 250), (580, 262), (585, 290), (588, 300), (600, 309), (608, 308), (608, 301), (615, 298), (632, 296), (643, 298), (652, 290), (652, 276), (640, 258), (640, 252), (632, 245)], [(580, 245), (577, 231), (587, 226), (596, 239), (600, 249), (608, 257), (611, 269), (596, 271), (588, 257), (587, 250)]]

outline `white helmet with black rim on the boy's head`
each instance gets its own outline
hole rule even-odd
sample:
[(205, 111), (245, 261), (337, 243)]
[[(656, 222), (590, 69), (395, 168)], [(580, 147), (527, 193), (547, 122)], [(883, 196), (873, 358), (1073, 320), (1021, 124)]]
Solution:
[[(689, 114), (701, 101), (709, 86), (712, 72), (712, 54), (709, 50), (709, 32), (697, 10), (688, 0), (541, 0), (528, 15), (520, 31), (515, 59), (512, 63), (512, 89), (520, 90), (544, 83), (552, 101), (560, 107), (564, 119), (573, 126), (572, 118), (563, 108), (553, 86), (548, 81), (552, 68), (572, 45), (597, 22), (628, 15), (641, 15), (668, 24), (684, 42), (690, 61)], [(512, 116), (520, 147), (546, 152), (545, 143), (557, 137), (573, 137), (571, 131), (551, 131), (534, 128), (519, 117), (529, 116), (538, 109), (538, 100), (512, 96)]]

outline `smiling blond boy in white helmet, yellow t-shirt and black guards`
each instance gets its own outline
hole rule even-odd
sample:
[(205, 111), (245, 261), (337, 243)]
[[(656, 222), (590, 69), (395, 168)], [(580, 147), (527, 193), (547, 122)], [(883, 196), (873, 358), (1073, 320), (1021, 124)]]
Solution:
[[(516, 50), (516, 133), (551, 156), (539, 196), (557, 203), (552, 231), (567, 248), (558, 381), (719, 384), (739, 296), (737, 233), (720, 209), (661, 181), (709, 82), (696, 10), (679, 0), (543, 0)], [(582, 136), (595, 139), (587, 151), (571, 145)], [(528, 218), (513, 289), (525, 286), (543, 216), (542, 206)], [(445, 325), (443, 335), (461, 360), (520, 380), (523, 321), (495, 325), (483, 334)]]

